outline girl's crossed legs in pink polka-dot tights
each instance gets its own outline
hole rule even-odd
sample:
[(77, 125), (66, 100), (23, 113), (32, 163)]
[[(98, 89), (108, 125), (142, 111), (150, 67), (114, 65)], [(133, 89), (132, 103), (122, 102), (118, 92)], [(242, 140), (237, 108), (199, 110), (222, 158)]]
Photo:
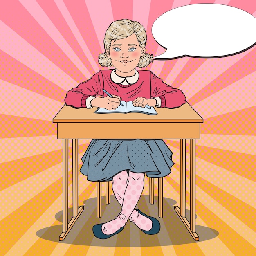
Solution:
[(113, 191), (122, 209), (117, 218), (102, 225), (102, 232), (106, 235), (115, 233), (124, 227), (128, 218), (140, 229), (150, 230), (152, 221), (135, 210), (144, 187), (144, 173), (121, 171), (113, 177)]

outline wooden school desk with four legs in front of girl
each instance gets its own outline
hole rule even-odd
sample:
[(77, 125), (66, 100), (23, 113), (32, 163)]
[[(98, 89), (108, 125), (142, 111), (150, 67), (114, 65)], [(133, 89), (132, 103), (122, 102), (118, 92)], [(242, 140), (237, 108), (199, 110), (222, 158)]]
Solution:
[[(158, 115), (139, 113), (95, 114), (97, 108), (63, 106), (54, 117), (58, 123), (58, 139), (63, 139), (63, 241), (81, 212), (78, 208), (78, 139), (180, 139), (180, 208), (175, 211), (198, 241), (195, 232), (195, 139), (200, 139), (202, 117), (186, 103), (180, 108), (156, 108)], [(67, 218), (68, 139), (72, 139), (73, 218)], [(190, 140), (190, 223), (185, 216), (186, 139)]]

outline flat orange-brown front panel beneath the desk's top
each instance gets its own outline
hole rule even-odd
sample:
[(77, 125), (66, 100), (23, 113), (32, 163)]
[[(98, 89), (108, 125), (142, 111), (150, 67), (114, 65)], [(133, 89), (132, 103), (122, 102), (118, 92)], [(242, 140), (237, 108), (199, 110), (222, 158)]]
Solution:
[(58, 123), (58, 139), (200, 139), (200, 123)]

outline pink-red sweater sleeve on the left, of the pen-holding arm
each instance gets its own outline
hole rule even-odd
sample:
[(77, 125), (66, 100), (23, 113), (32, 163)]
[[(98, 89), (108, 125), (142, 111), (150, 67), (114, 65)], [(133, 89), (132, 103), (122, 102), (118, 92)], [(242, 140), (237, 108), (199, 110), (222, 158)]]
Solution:
[(94, 95), (103, 95), (102, 93), (103, 78), (99, 71), (89, 80), (80, 83), (77, 87), (67, 92), (65, 103), (67, 106), (74, 108), (86, 108), (86, 99)]

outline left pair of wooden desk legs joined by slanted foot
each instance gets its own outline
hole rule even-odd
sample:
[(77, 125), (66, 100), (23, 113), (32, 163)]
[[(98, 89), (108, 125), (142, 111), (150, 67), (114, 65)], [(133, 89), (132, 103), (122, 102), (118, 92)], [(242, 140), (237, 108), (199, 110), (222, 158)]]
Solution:
[(63, 232), (59, 237), (63, 241), (83, 211), (78, 209), (78, 139), (72, 140), (73, 163), (73, 218), (68, 222), (68, 139), (63, 139)]

